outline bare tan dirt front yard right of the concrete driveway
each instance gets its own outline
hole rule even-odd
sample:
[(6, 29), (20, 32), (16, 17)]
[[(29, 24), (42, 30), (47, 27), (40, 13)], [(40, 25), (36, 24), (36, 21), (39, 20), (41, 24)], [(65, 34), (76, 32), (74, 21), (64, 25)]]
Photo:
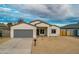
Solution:
[(78, 54), (79, 37), (39, 37), (36, 46), (32, 46), (33, 54)]

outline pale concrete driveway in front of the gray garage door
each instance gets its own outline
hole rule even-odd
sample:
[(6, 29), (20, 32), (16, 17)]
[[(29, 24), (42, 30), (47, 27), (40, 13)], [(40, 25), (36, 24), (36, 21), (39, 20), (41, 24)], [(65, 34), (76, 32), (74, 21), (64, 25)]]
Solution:
[(30, 54), (32, 38), (15, 38), (0, 45), (0, 54)]

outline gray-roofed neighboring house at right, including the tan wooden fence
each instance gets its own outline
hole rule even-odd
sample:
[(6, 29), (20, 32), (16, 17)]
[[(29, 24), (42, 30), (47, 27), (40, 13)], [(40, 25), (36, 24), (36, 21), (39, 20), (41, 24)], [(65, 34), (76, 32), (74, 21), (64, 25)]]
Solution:
[(61, 36), (79, 36), (79, 23), (61, 27)]

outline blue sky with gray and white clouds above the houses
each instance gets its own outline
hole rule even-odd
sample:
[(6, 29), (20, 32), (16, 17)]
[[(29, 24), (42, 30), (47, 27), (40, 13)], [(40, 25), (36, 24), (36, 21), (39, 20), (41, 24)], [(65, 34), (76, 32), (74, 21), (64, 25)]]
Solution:
[(25, 22), (40, 19), (50, 24), (65, 25), (79, 22), (79, 5), (67, 4), (1, 4), (0, 22)]

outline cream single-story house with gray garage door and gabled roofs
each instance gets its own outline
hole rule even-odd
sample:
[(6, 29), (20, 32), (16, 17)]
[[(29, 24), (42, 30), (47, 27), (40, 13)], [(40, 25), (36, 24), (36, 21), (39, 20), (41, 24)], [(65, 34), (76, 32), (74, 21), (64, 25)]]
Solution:
[(19, 23), (11, 27), (11, 38), (37, 38), (37, 36), (60, 36), (60, 28), (40, 20)]

